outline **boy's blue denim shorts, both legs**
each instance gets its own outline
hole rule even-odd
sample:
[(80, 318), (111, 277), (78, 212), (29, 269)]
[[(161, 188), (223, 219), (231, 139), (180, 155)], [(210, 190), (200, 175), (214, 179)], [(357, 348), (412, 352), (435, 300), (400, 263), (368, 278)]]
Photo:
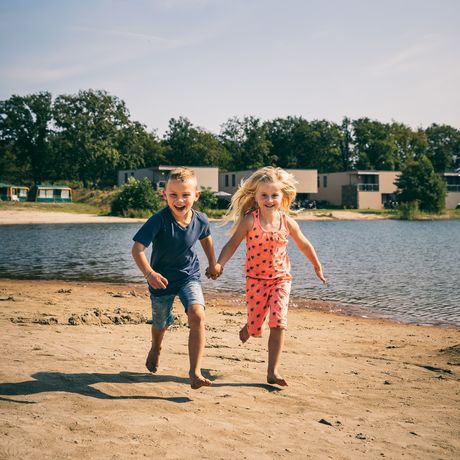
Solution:
[(204, 296), (201, 289), (201, 283), (196, 280), (185, 283), (177, 294), (167, 294), (162, 296), (153, 296), (150, 294), (152, 301), (152, 326), (157, 329), (166, 329), (174, 323), (173, 303), (176, 295), (179, 296), (182, 305), (184, 306), (185, 313), (188, 311), (190, 305), (203, 305)]

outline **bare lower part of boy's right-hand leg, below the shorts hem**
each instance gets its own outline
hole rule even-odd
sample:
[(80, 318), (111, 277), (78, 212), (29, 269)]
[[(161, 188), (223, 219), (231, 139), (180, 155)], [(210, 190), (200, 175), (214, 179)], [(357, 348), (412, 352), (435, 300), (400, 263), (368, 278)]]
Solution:
[(194, 390), (211, 385), (211, 381), (201, 374), (201, 359), (205, 346), (205, 314), (203, 305), (190, 305), (187, 311), (190, 334), (188, 338), (188, 353), (190, 359), (190, 385)]

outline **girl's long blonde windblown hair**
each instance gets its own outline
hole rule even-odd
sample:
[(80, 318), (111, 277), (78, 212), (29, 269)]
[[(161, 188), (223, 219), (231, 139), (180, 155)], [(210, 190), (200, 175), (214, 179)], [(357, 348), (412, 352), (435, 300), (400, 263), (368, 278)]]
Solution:
[(244, 217), (257, 209), (256, 191), (259, 184), (262, 183), (281, 184), (281, 192), (283, 193), (281, 209), (285, 212), (289, 211), (296, 195), (295, 185), (297, 181), (294, 176), (284, 169), (273, 166), (260, 168), (248, 179), (241, 181), (238, 190), (232, 196), (230, 207), (224, 216), (225, 222), (233, 221), (230, 233), (233, 234)]

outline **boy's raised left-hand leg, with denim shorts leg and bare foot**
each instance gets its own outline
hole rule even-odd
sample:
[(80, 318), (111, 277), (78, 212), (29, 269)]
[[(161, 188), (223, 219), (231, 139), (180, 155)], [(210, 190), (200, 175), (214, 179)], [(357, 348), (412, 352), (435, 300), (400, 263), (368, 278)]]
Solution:
[(166, 329), (174, 322), (172, 314), (174, 297), (174, 295), (150, 295), (152, 302), (152, 345), (145, 361), (145, 366), (150, 372), (158, 370), (161, 343), (163, 342)]

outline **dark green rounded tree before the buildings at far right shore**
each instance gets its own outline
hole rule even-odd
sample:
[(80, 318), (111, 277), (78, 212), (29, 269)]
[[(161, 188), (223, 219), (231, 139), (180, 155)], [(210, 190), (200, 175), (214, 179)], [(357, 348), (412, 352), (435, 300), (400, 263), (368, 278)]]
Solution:
[(444, 209), (446, 185), (423, 155), (409, 160), (396, 181), (400, 203), (418, 202), (422, 211), (439, 213)]

